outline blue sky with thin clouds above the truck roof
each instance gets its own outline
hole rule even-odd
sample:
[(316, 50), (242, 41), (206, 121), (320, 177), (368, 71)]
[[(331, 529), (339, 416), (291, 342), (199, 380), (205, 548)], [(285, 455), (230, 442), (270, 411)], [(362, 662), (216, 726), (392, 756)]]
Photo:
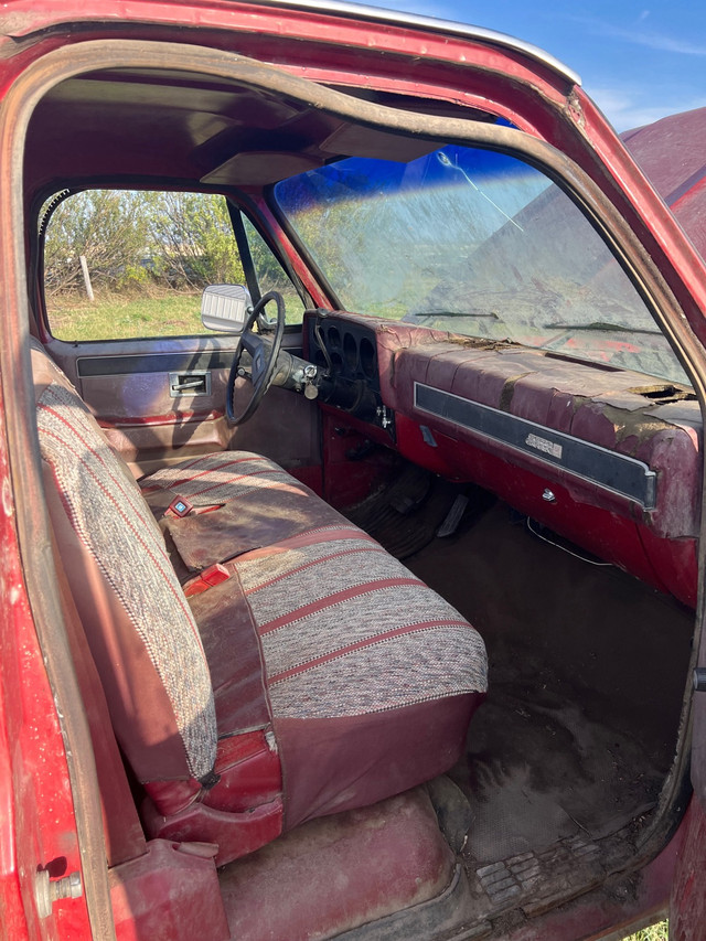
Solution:
[[(364, 2), (364, 0), (361, 0)], [(619, 131), (706, 106), (706, 2), (377, 0), (472, 23), (552, 53), (581, 76)]]

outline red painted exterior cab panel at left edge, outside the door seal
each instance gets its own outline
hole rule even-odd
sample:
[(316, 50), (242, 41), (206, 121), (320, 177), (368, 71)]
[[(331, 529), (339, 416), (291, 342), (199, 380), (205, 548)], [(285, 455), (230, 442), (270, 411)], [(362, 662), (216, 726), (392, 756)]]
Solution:
[[(84, 899), (38, 917), (34, 874), (81, 872), (64, 741), (22, 576), (0, 397), (0, 927), (7, 938), (88, 938)], [(53, 864), (53, 865), (52, 865)]]

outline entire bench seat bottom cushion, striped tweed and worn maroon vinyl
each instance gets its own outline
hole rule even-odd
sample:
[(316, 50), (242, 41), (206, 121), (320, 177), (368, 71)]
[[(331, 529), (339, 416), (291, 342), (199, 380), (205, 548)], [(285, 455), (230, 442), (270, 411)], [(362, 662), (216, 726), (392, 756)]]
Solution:
[[(196, 458), (142, 488), (168, 533), (192, 524), (178, 554), (201, 553), (202, 565), (225, 563), (231, 575), (190, 603), (220, 740), (258, 729), (261, 748), (249, 766), (217, 762), (222, 780), (201, 798), (206, 805), (245, 809), (234, 798), (255, 766), (263, 802), (271, 799), (266, 735), (281, 761), (285, 828), (373, 803), (453, 764), (486, 687), (483, 642), (458, 611), (260, 456)], [(165, 514), (176, 496), (195, 512)], [(285, 538), (272, 541), (275, 533)]]

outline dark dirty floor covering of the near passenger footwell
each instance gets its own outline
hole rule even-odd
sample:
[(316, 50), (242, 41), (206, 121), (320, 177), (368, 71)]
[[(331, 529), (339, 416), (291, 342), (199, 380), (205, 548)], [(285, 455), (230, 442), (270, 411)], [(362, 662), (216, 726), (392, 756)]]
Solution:
[(499, 504), (407, 565), (483, 635), (490, 691), (450, 777), (483, 866), (592, 845), (654, 806), (670, 768), (693, 616), (613, 567), (532, 536)]

